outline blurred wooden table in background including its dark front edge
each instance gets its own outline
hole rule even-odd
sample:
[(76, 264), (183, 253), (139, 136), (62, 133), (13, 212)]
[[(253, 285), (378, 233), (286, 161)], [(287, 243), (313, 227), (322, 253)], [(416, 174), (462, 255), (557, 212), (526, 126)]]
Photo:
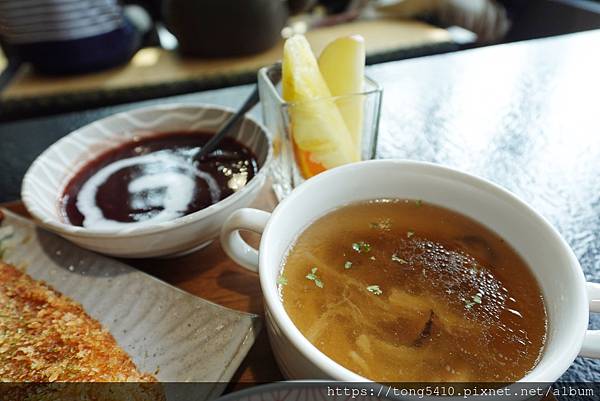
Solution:
[[(367, 60), (397, 60), (456, 49), (450, 33), (419, 21), (381, 19), (319, 27), (307, 33), (316, 54), (333, 39), (352, 34), (365, 38)], [(250, 83), (262, 66), (281, 59), (283, 40), (264, 52), (226, 58), (181, 57), (158, 47), (139, 50), (123, 66), (68, 77), (43, 76), (19, 67), (0, 92), (0, 118), (12, 119), (81, 110), (83, 107), (148, 99), (166, 94)], [(6, 64), (0, 52), (0, 71)]]

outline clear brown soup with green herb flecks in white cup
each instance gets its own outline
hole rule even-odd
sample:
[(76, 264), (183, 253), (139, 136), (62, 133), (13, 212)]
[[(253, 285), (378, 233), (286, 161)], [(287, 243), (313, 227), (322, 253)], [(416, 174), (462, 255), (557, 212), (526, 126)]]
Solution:
[(350, 204), (290, 246), (283, 304), (318, 349), (372, 380), (516, 381), (547, 318), (508, 240), (426, 200)]

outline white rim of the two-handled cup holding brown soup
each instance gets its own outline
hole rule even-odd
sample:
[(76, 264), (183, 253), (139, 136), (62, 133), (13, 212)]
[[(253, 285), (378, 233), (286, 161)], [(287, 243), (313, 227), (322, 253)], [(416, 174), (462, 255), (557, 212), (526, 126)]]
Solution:
[[(541, 226), (543, 226), (547, 230), (547, 232), (553, 237), (555, 244), (557, 246), (560, 246), (561, 250), (565, 253), (566, 257), (570, 261), (570, 263), (565, 268), (569, 268), (572, 270), (574, 274), (574, 281), (578, 286), (584, 289), (583, 292), (575, 294), (576, 299), (572, 300), (574, 305), (579, 304), (579, 307), (573, 308), (576, 309), (573, 312), (578, 314), (578, 321), (580, 326), (578, 328), (571, 328), (572, 342), (569, 344), (570, 347), (564, 347), (562, 353), (560, 355), (556, 355), (554, 361), (550, 365), (546, 366), (544, 370), (540, 370), (538, 361), (538, 363), (536, 363), (536, 365), (527, 374), (525, 374), (525, 376), (521, 377), (515, 382), (510, 383), (507, 387), (510, 387), (515, 383), (556, 381), (569, 368), (569, 366), (571, 366), (571, 364), (577, 357), (581, 345), (583, 343), (589, 317), (589, 306), (585, 291), (586, 280), (583, 274), (583, 270), (581, 269), (581, 265), (579, 264), (579, 261), (575, 256), (575, 253), (564, 240), (564, 238), (562, 238), (562, 236), (559, 234), (556, 228), (554, 228), (554, 226), (552, 226), (544, 216), (542, 216), (532, 206), (527, 204), (525, 201), (520, 199), (518, 196), (516, 196), (509, 190), (501, 187), (498, 184), (493, 183), (492, 181), (486, 178), (479, 177), (453, 167), (448, 167), (425, 161), (415, 161), (408, 159), (377, 159), (340, 166), (335, 169), (325, 171), (309, 181), (305, 181), (294, 191), (292, 191), (292, 193), (289, 196), (287, 196), (281, 203), (277, 205), (275, 210), (273, 210), (271, 217), (269, 218), (269, 221), (263, 230), (263, 240), (261, 240), (259, 249), (258, 273), (260, 278), (261, 291), (265, 302), (265, 308), (268, 310), (267, 316), (270, 316), (271, 319), (273, 319), (273, 324), (275, 324), (278, 327), (278, 329), (282, 333), (282, 336), (287, 338), (290, 341), (291, 345), (293, 345), (300, 354), (302, 354), (308, 361), (310, 361), (310, 363), (318, 367), (322, 372), (329, 375), (329, 377), (331, 377), (333, 380), (341, 380), (348, 382), (373, 382), (373, 380), (353, 372), (352, 370), (344, 367), (340, 363), (327, 356), (325, 353), (320, 351), (315, 345), (313, 345), (304, 336), (304, 334), (302, 334), (300, 329), (296, 327), (296, 325), (294, 324), (291, 317), (286, 312), (283, 306), (283, 302), (281, 301), (278, 295), (275, 279), (272, 277), (270, 269), (267, 269), (266, 267), (262, 268), (262, 266), (267, 265), (266, 255), (275, 252), (274, 247), (271, 244), (273, 241), (265, 240), (266, 237), (275, 235), (272, 228), (273, 221), (279, 218), (280, 215), (283, 215), (284, 210), (288, 207), (287, 205), (295, 202), (296, 198), (300, 196), (300, 193), (308, 190), (309, 188), (314, 190), (316, 186), (322, 185), (320, 183), (322, 181), (326, 181), (330, 176), (335, 176), (339, 173), (348, 174), (354, 171), (355, 169), (360, 169), (363, 167), (375, 168), (377, 166), (387, 166), (393, 168), (416, 168), (421, 169), (422, 172), (430, 172), (434, 175), (450, 177), (453, 180), (463, 182), (467, 181), (473, 184), (480, 185), (486, 191), (493, 193), (496, 196), (503, 197), (512, 204), (516, 204), (519, 207), (523, 208), (523, 210), (525, 210), (530, 216), (537, 220), (537, 222)], [(543, 288), (542, 292), (544, 292)], [(544, 295), (546, 295), (546, 293), (544, 293)], [(560, 326), (560, 322), (554, 322), (553, 324)], [(544, 344), (542, 353), (545, 352), (546, 344), (547, 343)], [(518, 399), (521, 400), (525, 398), (526, 397), (519, 397)]]

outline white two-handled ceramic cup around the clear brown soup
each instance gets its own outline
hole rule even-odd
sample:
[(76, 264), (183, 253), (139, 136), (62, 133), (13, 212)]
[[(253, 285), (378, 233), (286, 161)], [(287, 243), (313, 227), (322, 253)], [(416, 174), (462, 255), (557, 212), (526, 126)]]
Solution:
[[(429, 163), (372, 160), (311, 178), (271, 214), (240, 209), (221, 231), (225, 252), (259, 273), (267, 329), (286, 377), (368, 381), (302, 335), (283, 307), (276, 279), (288, 247), (309, 224), (340, 206), (377, 198), (423, 199), (467, 215), (507, 240), (525, 259), (543, 292), (548, 333), (540, 361), (520, 381), (552, 383), (578, 355), (600, 358), (600, 331), (587, 330), (590, 310), (600, 312), (600, 285), (586, 283), (577, 258), (542, 216), (510, 192), (472, 175)], [(239, 230), (262, 233), (260, 251), (246, 244)]]

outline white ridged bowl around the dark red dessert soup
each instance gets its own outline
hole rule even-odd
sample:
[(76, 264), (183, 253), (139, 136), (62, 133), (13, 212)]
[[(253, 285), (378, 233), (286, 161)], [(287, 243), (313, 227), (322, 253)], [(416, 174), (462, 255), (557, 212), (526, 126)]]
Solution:
[(67, 223), (59, 199), (73, 175), (108, 149), (157, 133), (216, 131), (232, 113), (213, 105), (173, 104), (127, 111), (93, 122), (60, 139), (33, 162), (23, 179), (23, 202), (44, 228), (83, 248), (108, 255), (173, 256), (204, 246), (218, 236), (233, 211), (256, 198), (265, 182), (271, 143), (265, 128), (251, 118), (246, 117), (232, 136), (254, 152), (258, 173), (244, 188), (205, 209), (172, 221), (106, 231)]

